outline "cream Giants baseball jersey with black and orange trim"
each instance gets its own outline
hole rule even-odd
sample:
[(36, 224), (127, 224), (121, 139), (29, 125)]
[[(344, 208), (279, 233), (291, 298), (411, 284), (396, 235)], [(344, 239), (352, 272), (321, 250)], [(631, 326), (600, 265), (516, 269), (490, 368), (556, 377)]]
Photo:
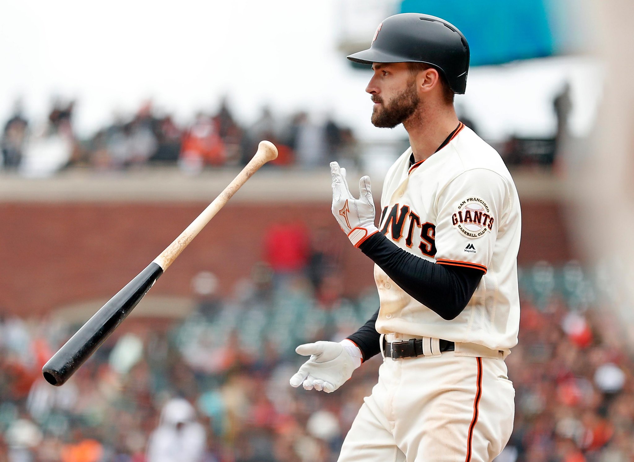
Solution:
[(446, 320), (404, 292), (377, 265), (376, 328), (477, 343), (493, 350), (517, 344), (517, 251), (521, 212), (517, 190), (500, 155), (469, 127), (424, 161), (411, 148), (385, 176), (378, 228), (396, 245), (437, 264), (484, 275), (467, 307)]

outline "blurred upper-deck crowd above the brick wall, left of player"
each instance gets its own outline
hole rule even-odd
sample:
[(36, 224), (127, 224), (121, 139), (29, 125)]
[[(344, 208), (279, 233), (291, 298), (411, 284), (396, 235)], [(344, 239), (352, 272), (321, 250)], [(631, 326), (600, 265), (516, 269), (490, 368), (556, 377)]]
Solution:
[(273, 165), (310, 168), (333, 159), (358, 162), (353, 131), (330, 116), (297, 112), (276, 117), (264, 106), (255, 122), (241, 125), (225, 99), (216, 112), (199, 112), (189, 124), (179, 125), (172, 115), (146, 102), (131, 117), (116, 117), (82, 139), (75, 134), (74, 110), (74, 101), (56, 101), (48, 120), (37, 125), (27, 120), (18, 101), (1, 134), (0, 168), (46, 177), (70, 166), (108, 171), (167, 163), (196, 174), (246, 164), (262, 139), (278, 146)]

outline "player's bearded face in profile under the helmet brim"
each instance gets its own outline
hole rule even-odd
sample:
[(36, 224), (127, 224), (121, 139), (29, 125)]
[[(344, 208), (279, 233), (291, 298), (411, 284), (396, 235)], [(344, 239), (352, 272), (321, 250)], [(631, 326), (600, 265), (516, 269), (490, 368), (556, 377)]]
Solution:
[(372, 95), (372, 124), (394, 128), (416, 112), (420, 98), (407, 63), (374, 63), (365, 91)]

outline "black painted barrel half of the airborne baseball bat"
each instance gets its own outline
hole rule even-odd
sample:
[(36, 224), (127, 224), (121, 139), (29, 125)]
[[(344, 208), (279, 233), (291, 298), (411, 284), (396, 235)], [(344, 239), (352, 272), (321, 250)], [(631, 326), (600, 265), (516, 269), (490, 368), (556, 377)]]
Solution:
[(162, 267), (152, 262), (117, 292), (117, 295), (110, 298), (48, 360), (48, 363), (44, 364), (42, 374), (46, 382), (57, 387), (63, 385), (126, 319), (161, 274), (163, 274)]

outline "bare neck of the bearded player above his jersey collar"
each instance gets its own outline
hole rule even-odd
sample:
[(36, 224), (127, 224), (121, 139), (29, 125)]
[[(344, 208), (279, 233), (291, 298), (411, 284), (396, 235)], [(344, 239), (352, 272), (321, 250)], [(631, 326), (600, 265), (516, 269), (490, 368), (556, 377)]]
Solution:
[(438, 146), (456, 129), (458, 116), (453, 105), (427, 108), (403, 123), (410, 136), (414, 160), (425, 160), (436, 152)]

